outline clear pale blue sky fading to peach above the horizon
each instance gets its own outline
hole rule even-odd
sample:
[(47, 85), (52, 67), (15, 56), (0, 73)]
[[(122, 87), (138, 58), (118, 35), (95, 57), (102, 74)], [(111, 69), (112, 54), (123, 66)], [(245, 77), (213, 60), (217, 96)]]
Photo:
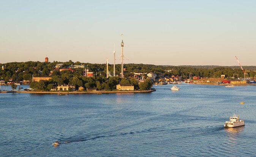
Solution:
[[(0, 0), (0, 63), (256, 65), (255, 0)], [(123, 36), (120, 36), (123, 34)]]

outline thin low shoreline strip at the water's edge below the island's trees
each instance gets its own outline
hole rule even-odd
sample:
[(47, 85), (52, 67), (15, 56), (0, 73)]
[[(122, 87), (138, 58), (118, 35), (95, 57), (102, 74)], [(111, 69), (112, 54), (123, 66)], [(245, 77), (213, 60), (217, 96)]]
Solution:
[(103, 93), (151, 93), (155, 92), (155, 89), (151, 90), (136, 90), (136, 91), (95, 91), (95, 92), (36, 92), (36, 91), (0, 91), (0, 93), (34, 93), (34, 94), (103, 94)]

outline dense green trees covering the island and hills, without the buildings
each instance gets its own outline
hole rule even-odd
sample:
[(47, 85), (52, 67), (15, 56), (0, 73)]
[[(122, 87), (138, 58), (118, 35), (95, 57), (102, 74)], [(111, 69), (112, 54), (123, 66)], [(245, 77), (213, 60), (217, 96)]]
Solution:
[[(74, 72), (65, 70), (59, 72), (54, 70), (56, 64), (63, 64), (63, 67), (68, 67), (69, 65), (85, 65), (90, 72), (94, 73), (94, 77), (86, 78), (83, 77), (82, 68), (76, 69)], [(90, 63), (81, 63), (81, 62), (10, 62), (6, 64), (0, 64), (2, 67), (0, 70), (0, 78), (4, 79), (5, 82), (8, 82), (10, 78), (14, 82), (23, 81), (23, 80), (32, 80), (33, 76), (49, 76), (50, 71), (52, 73), (52, 79), (49, 81), (38, 82), (31, 84), (32, 86), (37, 86), (41, 84), (41, 87), (38, 89), (50, 89), (50, 84), (75, 84), (78, 87), (97, 87), (98, 89), (104, 90), (114, 90), (115, 85), (120, 83), (121, 80), (119, 77), (110, 77), (106, 78), (106, 64), (90, 64)], [(121, 72), (120, 64), (116, 65), (116, 73)], [(182, 76), (183, 79), (186, 79), (191, 74), (192, 76), (201, 76), (204, 78), (220, 78), (221, 75), (226, 75), (226, 78), (243, 78), (243, 72), (240, 67), (220, 67), (220, 66), (166, 66), (166, 65), (151, 65), (151, 64), (125, 64), (124, 76), (126, 81), (134, 84), (134, 89), (140, 89), (139, 85), (136, 82), (137, 80), (132, 79), (134, 72), (137, 73), (156, 73), (158, 76)], [(247, 77), (254, 77), (256, 72), (253, 70), (256, 69), (255, 66), (244, 67), (244, 69), (250, 69), (251, 71), (247, 72)], [(113, 65), (109, 65), (109, 71), (113, 72)], [(112, 74), (112, 73), (111, 73)], [(161, 75), (160, 75), (161, 74)], [(145, 75), (146, 78), (146, 75)], [(128, 83), (127, 82), (127, 83)], [(47, 87), (49, 85), (49, 87)], [(142, 85), (141, 85), (142, 86)], [(145, 87), (147, 89), (147, 87)]]

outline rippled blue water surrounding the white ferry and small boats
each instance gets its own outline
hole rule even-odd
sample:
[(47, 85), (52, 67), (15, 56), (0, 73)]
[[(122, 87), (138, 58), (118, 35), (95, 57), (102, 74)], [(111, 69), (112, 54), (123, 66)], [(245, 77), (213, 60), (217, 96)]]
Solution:
[[(0, 156), (256, 156), (256, 86), (177, 86), (147, 94), (0, 93)], [(223, 127), (233, 113), (244, 127)]]

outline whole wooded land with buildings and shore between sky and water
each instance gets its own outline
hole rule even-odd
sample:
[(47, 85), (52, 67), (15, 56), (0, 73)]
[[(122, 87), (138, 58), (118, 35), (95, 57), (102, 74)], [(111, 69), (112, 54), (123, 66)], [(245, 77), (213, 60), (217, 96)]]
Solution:
[[(222, 84), (223, 80), (247, 84), (255, 82), (256, 66), (171, 66), (125, 64), (123, 78), (121, 65), (73, 62), (10, 62), (0, 64), (0, 84), (11, 84), (12, 92), (32, 93), (131, 93), (152, 92), (153, 84), (189, 81), (196, 84)], [(87, 73), (87, 74), (86, 74)], [(119, 75), (118, 75), (119, 74)], [(29, 84), (30, 90), (20, 91), (19, 84)], [(254, 83), (253, 83), (254, 84)], [(122, 86), (122, 87), (118, 87)], [(124, 86), (127, 86), (126, 87)], [(129, 88), (128, 86), (133, 88)], [(20, 87), (19, 87), (20, 88)], [(123, 88), (123, 89), (122, 89)]]

